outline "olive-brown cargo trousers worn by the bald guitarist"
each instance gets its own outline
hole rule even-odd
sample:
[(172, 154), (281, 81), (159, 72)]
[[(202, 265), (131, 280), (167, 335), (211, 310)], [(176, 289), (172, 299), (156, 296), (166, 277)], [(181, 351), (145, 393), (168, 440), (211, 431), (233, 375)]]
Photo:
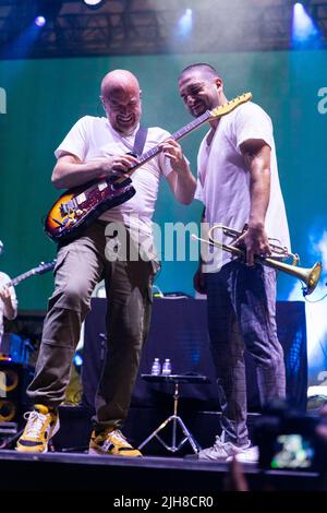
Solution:
[(28, 387), (34, 404), (57, 407), (64, 401), (81, 324), (90, 309), (96, 284), (105, 278), (108, 350), (96, 395), (96, 423), (120, 426), (125, 419), (146, 339), (152, 306), (153, 264), (143, 260), (108, 261), (106, 225), (94, 223), (61, 247), (55, 269), (36, 375)]

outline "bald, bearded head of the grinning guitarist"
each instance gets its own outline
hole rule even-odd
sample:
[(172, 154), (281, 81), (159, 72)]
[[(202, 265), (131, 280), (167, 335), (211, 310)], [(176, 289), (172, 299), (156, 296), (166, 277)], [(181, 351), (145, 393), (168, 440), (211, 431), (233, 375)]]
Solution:
[(106, 74), (101, 83), (101, 100), (111, 127), (130, 135), (141, 118), (141, 90), (136, 76), (128, 70)]

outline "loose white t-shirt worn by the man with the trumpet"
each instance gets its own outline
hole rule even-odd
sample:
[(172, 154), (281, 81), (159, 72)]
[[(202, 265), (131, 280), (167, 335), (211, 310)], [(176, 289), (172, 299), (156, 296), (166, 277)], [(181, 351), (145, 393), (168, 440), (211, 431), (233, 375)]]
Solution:
[[(271, 241), (290, 249), (287, 215), (281, 194), (272, 123), (269, 116), (251, 102), (241, 105), (219, 120), (218, 128), (208, 146), (207, 134), (197, 155), (197, 189), (195, 198), (206, 207), (209, 226), (222, 224), (241, 231), (250, 215), (250, 171), (245, 166), (240, 146), (250, 139), (264, 140), (271, 148), (270, 199), (266, 213), (265, 229)], [(216, 235), (216, 234), (215, 234)], [(219, 234), (217, 231), (217, 237)], [(218, 240), (221, 240), (218, 238)], [(222, 237), (222, 242), (231, 239)], [(231, 254), (221, 253), (223, 265)]]

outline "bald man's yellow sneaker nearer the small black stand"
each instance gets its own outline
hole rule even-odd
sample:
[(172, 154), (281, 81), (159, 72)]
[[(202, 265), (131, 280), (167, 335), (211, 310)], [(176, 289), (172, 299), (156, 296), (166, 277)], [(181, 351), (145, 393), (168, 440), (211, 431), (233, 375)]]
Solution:
[(111, 456), (142, 456), (137, 449), (132, 448), (123, 433), (113, 427), (96, 434), (92, 432), (88, 454), (105, 454)]

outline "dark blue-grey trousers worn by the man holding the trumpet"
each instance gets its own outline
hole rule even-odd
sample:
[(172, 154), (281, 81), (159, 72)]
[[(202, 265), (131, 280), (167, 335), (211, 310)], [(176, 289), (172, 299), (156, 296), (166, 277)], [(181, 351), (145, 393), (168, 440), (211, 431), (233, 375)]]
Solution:
[(284, 397), (282, 347), (276, 326), (276, 272), (232, 261), (206, 274), (208, 324), (225, 441), (249, 443), (244, 347), (256, 365), (261, 403)]

